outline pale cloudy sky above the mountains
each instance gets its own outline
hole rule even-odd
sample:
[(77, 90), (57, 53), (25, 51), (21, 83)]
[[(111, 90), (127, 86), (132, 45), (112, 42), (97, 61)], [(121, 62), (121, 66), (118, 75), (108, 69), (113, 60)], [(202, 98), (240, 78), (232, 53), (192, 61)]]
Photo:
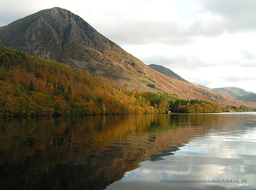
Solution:
[(255, 0), (8, 0), (0, 26), (52, 7), (79, 15), (146, 65), (256, 93)]

